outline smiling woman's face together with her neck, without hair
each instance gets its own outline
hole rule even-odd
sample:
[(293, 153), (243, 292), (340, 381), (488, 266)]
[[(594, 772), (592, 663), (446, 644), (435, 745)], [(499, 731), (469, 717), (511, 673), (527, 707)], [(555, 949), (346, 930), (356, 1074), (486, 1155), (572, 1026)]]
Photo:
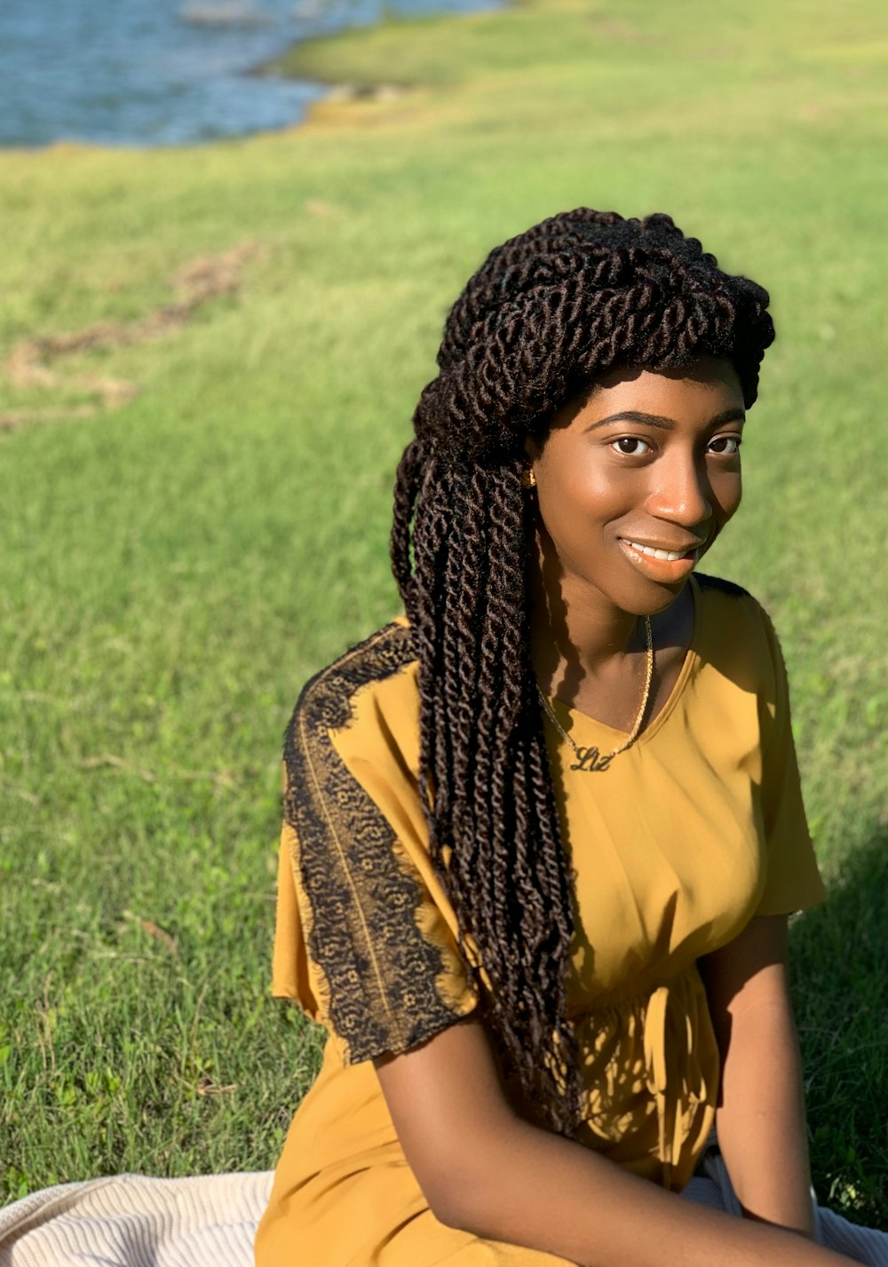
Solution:
[[(542, 446), (527, 442), (540, 509), (532, 646), (537, 678), (551, 694), (561, 683), (564, 696), (573, 677), (569, 702), (619, 720), (632, 707), (630, 698), (621, 708), (619, 694), (632, 693), (626, 661), (635, 617), (663, 612), (663, 621), (652, 621), (661, 636), (647, 716), (656, 716), (692, 626), (684, 583), (740, 506), (744, 418), (731, 362), (702, 357), (663, 374), (611, 370), (585, 399), (555, 414)], [(555, 588), (571, 613), (569, 640), (559, 640), (546, 620), (546, 593)], [(614, 609), (625, 613), (626, 646), (611, 649), (595, 631)], [(665, 636), (680, 627), (683, 637)]]

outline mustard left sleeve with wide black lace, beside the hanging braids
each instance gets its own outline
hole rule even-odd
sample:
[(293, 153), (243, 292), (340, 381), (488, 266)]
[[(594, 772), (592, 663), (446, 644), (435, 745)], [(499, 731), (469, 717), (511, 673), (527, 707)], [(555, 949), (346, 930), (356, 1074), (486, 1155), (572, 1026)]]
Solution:
[(417, 1047), (476, 1003), (405, 750), (415, 693), (405, 631), (389, 626), (309, 683), (286, 734), (272, 992), (348, 1064)]

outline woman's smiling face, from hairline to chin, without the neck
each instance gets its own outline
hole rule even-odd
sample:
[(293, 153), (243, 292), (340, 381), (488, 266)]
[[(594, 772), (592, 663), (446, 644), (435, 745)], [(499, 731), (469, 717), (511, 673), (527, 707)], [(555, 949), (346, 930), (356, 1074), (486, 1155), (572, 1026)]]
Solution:
[(562, 589), (635, 614), (668, 607), (740, 504), (744, 417), (733, 366), (713, 357), (613, 370), (560, 409), (527, 451)]

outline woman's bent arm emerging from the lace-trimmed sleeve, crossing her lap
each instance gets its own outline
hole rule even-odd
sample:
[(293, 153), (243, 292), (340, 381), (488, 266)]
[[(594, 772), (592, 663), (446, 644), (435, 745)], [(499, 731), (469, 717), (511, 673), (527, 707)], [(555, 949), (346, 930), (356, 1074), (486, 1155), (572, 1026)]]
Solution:
[(850, 1267), (801, 1237), (666, 1192), (509, 1106), (484, 1026), (466, 1021), (376, 1062), (436, 1216), (581, 1267)]

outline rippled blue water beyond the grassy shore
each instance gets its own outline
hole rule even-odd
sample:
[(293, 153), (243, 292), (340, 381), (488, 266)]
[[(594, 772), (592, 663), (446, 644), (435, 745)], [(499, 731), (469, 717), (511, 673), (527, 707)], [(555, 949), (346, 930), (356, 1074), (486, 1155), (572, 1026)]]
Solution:
[(0, 146), (176, 146), (288, 127), (328, 90), (250, 72), (294, 42), (379, 22), (383, 10), (490, 4), (0, 0)]

